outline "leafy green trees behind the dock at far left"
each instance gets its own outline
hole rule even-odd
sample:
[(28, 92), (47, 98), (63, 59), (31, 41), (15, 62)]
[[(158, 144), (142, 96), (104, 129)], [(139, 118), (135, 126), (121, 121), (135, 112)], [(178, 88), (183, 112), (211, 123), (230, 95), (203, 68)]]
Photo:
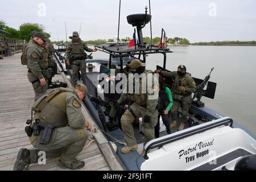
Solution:
[[(9, 32), (9, 34), (4, 35), (6, 38), (22, 39), (28, 42), (31, 38), (31, 32), (34, 30), (44, 32), (44, 26), (38, 23), (23, 23), (19, 26), (19, 30), (16, 30), (15, 28), (7, 26), (3, 20), (0, 20), (0, 30)], [(50, 34), (45, 33), (48, 37), (51, 37)]]

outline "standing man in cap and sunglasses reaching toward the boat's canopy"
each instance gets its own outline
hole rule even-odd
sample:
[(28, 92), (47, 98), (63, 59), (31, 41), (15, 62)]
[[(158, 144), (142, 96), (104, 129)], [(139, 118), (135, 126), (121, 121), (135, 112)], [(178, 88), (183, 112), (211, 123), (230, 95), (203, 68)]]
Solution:
[(86, 43), (79, 38), (78, 32), (73, 32), (72, 42), (68, 44), (66, 49), (66, 63), (68, 66), (72, 67), (72, 85), (77, 84), (77, 78), (79, 76), (79, 70), (82, 75), (82, 82), (85, 84), (85, 74), (86, 74), (86, 53), (84, 52), (96, 52), (97, 49), (88, 48)]

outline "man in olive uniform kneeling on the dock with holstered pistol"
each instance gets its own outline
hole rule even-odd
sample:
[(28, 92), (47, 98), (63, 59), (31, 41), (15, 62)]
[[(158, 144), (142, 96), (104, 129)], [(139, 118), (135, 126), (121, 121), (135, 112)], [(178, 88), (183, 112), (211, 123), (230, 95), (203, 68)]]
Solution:
[[(48, 90), (46, 94), (36, 100), (33, 108), (36, 110), (34, 120), (39, 119), (39, 126), (53, 125), (49, 142), (42, 144), (44, 129), (39, 130), (39, 135), (28, 133), (32, 146), (37, 149), (19, 150), (14, 170), (21, 171), (29, 164), (38, 162), (38, 152), (45, 151), (46, 158), (60, 156), (59, 167), (69, 169), (79, 169), (84, 167), (84, 161), (77, 160), (76, 156), (82, 151), (88, 133), (91, 130), (91, 123), (85, 121), (81, 114), (81, 103), (87, 93), (84, 84), (78, 84), (74, 89), (56, 88)], [(42, 155), (42, 154), (41, 154)]]

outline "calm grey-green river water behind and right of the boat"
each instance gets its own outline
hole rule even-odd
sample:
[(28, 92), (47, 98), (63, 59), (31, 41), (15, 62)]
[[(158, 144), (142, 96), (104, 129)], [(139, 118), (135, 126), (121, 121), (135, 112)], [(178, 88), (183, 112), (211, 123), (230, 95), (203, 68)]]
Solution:
[[(227, 115), (256, 135), (256, 47), (189, 46), (170, 47), (166, 68), (176, 71), (184, 64), (193, 77), (204, 79), (214, 67), (210, 81), (217, 83), (214, 100), (201, 101), (210, 109)], [(106, 53), (93, 53), (93, 58), (108, 59)], [(147, 69), (163, 65), (162, 55), (149, 55)]]

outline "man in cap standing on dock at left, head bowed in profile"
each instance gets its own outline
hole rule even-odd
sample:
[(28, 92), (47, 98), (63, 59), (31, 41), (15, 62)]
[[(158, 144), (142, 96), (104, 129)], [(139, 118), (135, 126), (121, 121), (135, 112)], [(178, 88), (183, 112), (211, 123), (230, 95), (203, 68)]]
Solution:
[(47, 51), (44, 48), (50, 42), (43, 32), (35, 32), (31, 43), (26, 47), (28, 80), (35, 91), (35, 100), (46, 93), (48, 84), (46, 80), (51, 77), (51, 64), (49, 64)]

